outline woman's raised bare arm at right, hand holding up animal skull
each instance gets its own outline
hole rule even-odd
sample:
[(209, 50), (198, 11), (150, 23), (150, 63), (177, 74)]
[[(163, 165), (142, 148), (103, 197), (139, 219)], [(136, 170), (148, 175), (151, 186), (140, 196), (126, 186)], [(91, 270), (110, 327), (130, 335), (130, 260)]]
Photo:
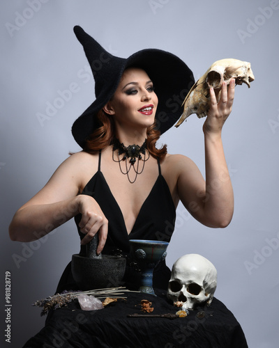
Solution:
[[(221, 132), (225, 120), (232, 111), (235, 81), (227, 90), (223, 83), (217, 102), (213, 88), (210, 90), (211, 107), (204, 122), (206, 180), (192, 164), (180, 171), (177, 185), (179, 198), (191, 214), (206, 226), (224, 228), (234, 212), (234, 193), (225, 160)], [(190, 180), (190, 182), (189, 182)]]

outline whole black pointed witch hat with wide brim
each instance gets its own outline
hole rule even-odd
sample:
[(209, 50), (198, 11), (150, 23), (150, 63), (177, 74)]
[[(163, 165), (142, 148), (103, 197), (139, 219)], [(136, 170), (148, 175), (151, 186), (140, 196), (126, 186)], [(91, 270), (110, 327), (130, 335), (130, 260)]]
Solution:
[(142, 68), (153, 81), (158, 96), (156, 123), (160, 133), (174, 125), (183, 112), (181, 104), (195, 82), (192, 71), (180, 58), (160, 49), (143, 49), (128, 58), (119, 58), (107, 52), (80, 26), (75, 26), (74, 31), (84, 47), (95, 79), (96, 100), (72, 127), (75, 141), (82, 148), (98, 127), (96, 114), (112, 98), (123, 71), (130, 66)]

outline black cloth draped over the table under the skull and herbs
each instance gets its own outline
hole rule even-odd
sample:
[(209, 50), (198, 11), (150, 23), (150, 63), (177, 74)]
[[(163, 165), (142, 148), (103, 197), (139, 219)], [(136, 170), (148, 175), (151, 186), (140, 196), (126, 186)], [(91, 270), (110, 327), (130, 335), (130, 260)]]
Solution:
[[(128, 292), (112, 305), (101, 310), (81, 310), (77, 299), (47, 316), (45, 327), (27, 341), (24, 348), (92, 348), (92, 347), (155, 347), (155, 348), (247, 348), (245, 335), (234, 315), (218, 299), (211, 306), (191, 310), (187, 317), (167, 319), (151, 315), (175, 314), (178, 308), (167, 301), (166, 292), (157, 296)], [(149, 317), (140, 302), (152, 302)], [(199, 313), (199, 314), (198, 314)]]

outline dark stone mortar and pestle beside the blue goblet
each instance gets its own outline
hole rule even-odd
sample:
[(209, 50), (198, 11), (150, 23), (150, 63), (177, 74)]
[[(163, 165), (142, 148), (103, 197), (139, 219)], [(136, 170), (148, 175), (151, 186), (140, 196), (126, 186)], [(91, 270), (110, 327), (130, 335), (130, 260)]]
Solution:
[(80, 290), (119, 287), (125, 274), (126, 258), (97, 255), (98, 233), (86, 244), (86, 256), (72, 256), (72, 274)]

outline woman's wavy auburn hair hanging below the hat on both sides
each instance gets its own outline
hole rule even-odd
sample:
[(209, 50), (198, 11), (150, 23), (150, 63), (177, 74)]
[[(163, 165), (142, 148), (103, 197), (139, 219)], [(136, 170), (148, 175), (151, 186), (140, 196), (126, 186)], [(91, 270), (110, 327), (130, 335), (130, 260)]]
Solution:
[[(89, 136), (84, 146), (84, 151), (91, 154), (96, 153), (99, 150), (106, 148), (112, 143), (115, 137), (115, 126), (113, 118), (100, 110), (97, 113), (99, 127)], [(147, 128), (146, 148), (149, 150), (150, 155), (164, 159), (167, 155), (167, 145), (163, 145), (162, 148), (156, 148), (156, 141), (160, 138), (160, 131), (156, 129), (156, 123)]]

